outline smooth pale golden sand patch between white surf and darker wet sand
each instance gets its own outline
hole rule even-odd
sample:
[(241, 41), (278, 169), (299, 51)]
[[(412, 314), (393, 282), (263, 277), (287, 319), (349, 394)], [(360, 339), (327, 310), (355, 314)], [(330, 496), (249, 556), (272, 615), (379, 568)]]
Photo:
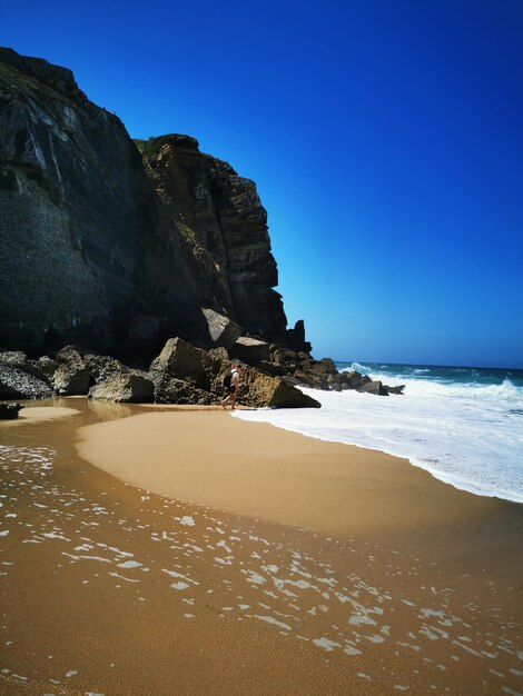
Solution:
[[(454, 558), (457, 547), (491, 554), (492, 535), (477, 529), (495, 521), (503, 529), (496, 565), (510, 574), (511, 546), (523, 538), (516, 503), (454, 488), (408, 459), (246, 422), (221, 409), (152, 411), (81, 428), (77, 451), (147, 491), (341, 538), (430, 545), (440, 559)], [(438, 541), (442, 530), (453, 530), (451, 548)]]

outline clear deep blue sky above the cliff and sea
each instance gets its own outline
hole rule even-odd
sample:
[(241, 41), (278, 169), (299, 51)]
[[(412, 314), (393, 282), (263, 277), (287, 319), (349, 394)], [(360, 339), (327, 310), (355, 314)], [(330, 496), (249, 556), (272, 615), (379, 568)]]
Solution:
[(0, 43), (254, 179), (315, 357), (523, 367), (521, 0), (0, 0)]

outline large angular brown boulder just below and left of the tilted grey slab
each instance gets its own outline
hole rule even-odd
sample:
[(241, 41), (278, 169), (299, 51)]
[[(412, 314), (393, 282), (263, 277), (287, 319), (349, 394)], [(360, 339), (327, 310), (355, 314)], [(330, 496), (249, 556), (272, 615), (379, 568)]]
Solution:
[(160, 355), (150, 365), (151, 371), (168, 372), (195, 387), (209, 391), (218, 359), (182, 338), (169, 338)]

